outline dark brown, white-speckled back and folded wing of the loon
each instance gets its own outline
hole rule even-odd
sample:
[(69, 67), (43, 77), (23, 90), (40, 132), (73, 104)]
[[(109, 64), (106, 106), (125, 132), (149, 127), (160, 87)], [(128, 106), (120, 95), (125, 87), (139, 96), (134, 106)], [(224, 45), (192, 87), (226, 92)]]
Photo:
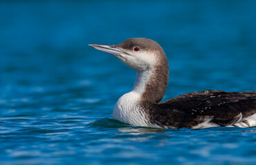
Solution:
[[(159, 115), (155, 115), (155, 120), (164, 125), (191, 128), (210, 119), (218, 126), (228, 126), (256, 113), (256, 91), (191, 92), (161, 102), (157, 108)], [(171, 115), (172, 118), (177, 115), (177, 121), (164, 120), (162, 115)]]

